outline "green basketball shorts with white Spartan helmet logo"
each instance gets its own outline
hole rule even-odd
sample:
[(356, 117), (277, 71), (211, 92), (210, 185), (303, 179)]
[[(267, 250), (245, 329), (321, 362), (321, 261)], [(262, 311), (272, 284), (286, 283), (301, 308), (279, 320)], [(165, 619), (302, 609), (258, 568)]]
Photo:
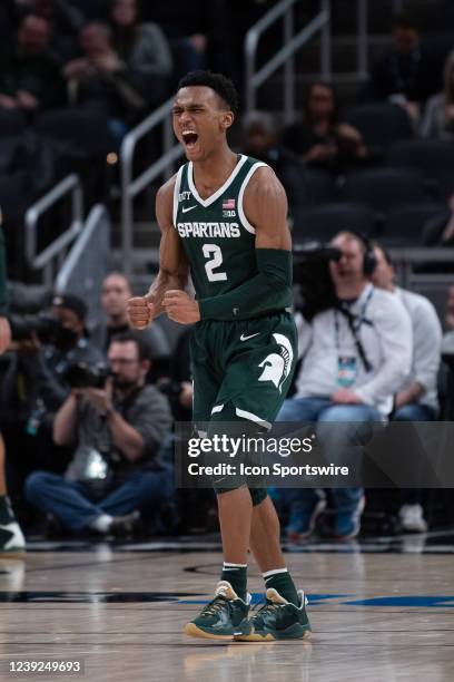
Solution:
[(231, 402), (240, 419), (270, 428), (297, 361), (293, 315), (275, 313), (235, 322), (204, 320), (190, 345), (196, 422), (216, 420)]

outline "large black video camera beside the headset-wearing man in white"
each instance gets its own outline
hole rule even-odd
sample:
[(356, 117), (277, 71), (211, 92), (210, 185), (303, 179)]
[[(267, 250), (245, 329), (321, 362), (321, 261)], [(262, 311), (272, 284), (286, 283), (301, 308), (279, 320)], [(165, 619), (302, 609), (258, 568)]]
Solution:
[(310, 322), (315, 315), (336, 306), (337, 298), (329, 262), (342, 252), (330, 244), (308, 242), (294, 245), (294, 283), (299, 288), (296, 309)]

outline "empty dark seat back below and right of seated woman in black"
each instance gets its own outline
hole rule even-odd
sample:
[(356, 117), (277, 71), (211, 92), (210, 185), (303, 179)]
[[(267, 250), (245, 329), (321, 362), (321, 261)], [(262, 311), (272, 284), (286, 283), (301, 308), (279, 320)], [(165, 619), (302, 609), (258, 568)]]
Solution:
[(347, 202), (367, 204), (379, 220), (402, 204), (428, 201), (421, 174), (406, 168), (374, 168), (351, 173), (339, 187), (339, 197)]

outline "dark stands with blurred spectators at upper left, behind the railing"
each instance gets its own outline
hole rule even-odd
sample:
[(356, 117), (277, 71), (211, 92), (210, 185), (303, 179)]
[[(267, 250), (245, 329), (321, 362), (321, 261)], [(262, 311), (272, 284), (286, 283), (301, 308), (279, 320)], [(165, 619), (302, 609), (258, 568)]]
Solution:
[(16, 276), (27, 276), (18, 234), (28, 205), (70, 172), (88, 205), (108, 201), (116, 168), (106, 160), (118, 159), (125, 134), (188, 70), (231, 74), (227, 19), (225, 0), (1, 3), (0, 205), (19, 242)]

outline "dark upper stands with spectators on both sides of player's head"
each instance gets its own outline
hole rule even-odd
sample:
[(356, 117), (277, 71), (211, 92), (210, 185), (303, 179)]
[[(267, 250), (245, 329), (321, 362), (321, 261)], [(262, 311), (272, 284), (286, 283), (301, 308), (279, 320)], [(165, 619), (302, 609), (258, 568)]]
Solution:
[[(257, 19), (266, 6), (247, 3), (247, 16)], [(239, 82), (237, 52), (228, 49), (229, 39), (243, 40), (246, 26), (237, 22), (224, 0), (3, 3), (0, 204), (11, 240), (23, 207), (70, 170), (90, 185), (88, 204), (107, 196), (107, 154), (118, 153), (180, 75), (208, 67)], [(261, 111), (243, 119), (243, 146), (283, 178), (296, 236), (323, 235), (322, 223), (332, 236), (340, 212), (389, 245), (430, 243), (426, 224), (444, 212), (454, 186), (453, 52), (431, 51), (404, 16), (391, 38), (354, 106), (344, 107), (332, 84), (315, 81), (290, 125), (279, 129)]]

